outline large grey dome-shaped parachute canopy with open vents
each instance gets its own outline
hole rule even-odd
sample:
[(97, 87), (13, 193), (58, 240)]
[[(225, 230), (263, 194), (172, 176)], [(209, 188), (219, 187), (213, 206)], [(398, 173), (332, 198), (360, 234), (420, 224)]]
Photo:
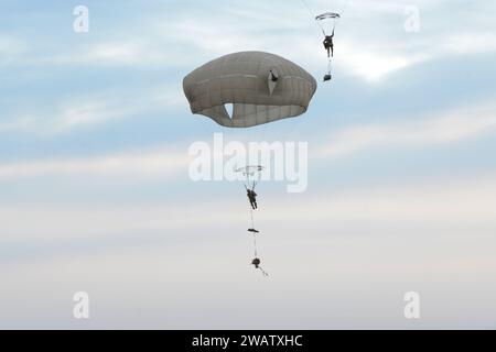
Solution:
[[(296, 64), (262, 52), (214, 59), (183, 80), (193, 113), (228, 128), (250, 128), (304, 113), (316, 81)], [(233, 114), (226, 105), (233, 105)]]

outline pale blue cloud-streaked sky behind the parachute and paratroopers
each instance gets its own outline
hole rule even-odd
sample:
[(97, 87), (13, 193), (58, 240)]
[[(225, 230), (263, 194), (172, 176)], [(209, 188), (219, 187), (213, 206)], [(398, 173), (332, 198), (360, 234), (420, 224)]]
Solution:
[[(0, 0), (0, 328), (496, 327), (496, 3), (306, 2)], [(193, 116), (184, 76), (240, 51), (311, 73), (308, 112)], [(309, 145), (306, 191), (257, 187), (268, 278), (242, 185), (188, 175), (214, 133)]]

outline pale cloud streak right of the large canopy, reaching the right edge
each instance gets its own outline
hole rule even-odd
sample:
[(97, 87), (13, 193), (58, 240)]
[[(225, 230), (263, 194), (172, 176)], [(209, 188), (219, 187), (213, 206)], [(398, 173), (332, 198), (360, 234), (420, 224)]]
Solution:
[(494, 103), (443, 112), (412, 122), (358, 125), (327, 138), (313, 156), (335, 158), (377, 147), (428, 146), (454, 143), (496, 129)]

